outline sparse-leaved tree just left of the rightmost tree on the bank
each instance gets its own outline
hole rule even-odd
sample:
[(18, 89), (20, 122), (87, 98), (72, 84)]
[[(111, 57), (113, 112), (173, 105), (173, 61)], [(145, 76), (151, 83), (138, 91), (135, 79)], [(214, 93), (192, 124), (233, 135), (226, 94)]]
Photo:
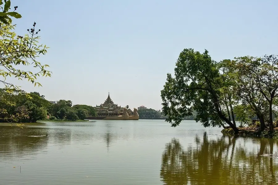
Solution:
[(260, 59), (251, 56), (237, 57), (234, 60), (226, 60), (226, 66), (229, 70), (229, 77), (233, 80), (233, 92), (239, 104), (254, 112), (260, 121), (260, 130), (264, 130), (265, 111), (267, 104), (265, 99), (257, 88), (255, 73), (260, 68)]

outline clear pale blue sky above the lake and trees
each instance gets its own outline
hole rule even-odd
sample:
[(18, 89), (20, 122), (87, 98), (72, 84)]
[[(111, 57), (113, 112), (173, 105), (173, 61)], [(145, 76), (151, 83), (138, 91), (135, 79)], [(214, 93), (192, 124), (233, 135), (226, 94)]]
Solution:
[(52, 78), (43, 87), (17, 82), (48, 100), (103, 103), (110, 91), (118, 105), (161, 109), (160, 90), (184, 48), (207, 49), (214, 60), (278, 54), (277, 0), (12, 0), (22, 19), (16, 32), (36, 21), (40, 58)]

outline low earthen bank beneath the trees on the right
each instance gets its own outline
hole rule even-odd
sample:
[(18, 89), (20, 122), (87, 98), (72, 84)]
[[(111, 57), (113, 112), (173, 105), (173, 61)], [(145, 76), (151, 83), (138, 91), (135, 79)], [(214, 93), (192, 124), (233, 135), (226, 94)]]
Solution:
[[(268, 129), (264, 131), (260, 131), (259, 127), (241, 127), (238, 129), (239, 129), (238, 135), (240, 136), (278, 139), (278, 127), (274, 128), (272, 133)], [(234, 134), (234, 130), (232, 128), (227, 128), (221, 130), (221, 133)]]

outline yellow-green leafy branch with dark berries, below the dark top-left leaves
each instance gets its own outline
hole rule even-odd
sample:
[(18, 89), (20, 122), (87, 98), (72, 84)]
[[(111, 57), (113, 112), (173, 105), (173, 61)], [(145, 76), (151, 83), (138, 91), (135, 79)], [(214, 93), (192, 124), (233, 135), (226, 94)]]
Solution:
[[(16, 77), (19, 80), (27, 80), (32, 82), (35, 86), (41, 86), (37, 82), (38, 76), (51, 76), (51, 72), (46, 70), (49, 67), (47, 64), (41, 64), (36, 60), (39, 55), (45, 55), (48, 47), (38, 45), (39, 36), (38, 31), (35, 32), (36, 23), (33, 24), (33, 28), (29, 35), (24, 37), (16, 35), (12, 30), (15, 29), (15, 25), (2, 24), (0, 27), (0, 76), (3, 80), (0, 80), (8, 89), (19, 89), (18, 86), (7, 82), (7, 77)], [(22, 66), (31, 66), (38, 69), (37, 71), (24, 71), (21, 70)]]

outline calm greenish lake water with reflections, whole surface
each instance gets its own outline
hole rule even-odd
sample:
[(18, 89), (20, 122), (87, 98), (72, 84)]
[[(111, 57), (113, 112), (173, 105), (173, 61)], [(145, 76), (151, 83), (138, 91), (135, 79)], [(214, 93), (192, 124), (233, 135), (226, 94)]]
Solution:
[(277, 140), (220, 131), (163, 120), (0, 125), (0, 184), (278, 184)]

